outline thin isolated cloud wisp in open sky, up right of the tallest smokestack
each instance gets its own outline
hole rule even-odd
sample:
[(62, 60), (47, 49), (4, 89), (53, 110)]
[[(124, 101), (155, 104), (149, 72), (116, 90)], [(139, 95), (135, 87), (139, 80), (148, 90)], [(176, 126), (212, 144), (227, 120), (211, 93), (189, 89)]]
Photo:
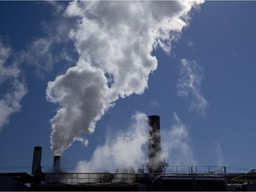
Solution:
[(209, 106), (201, 92), (204, 68), (200, 67), (195, 60), (180, 60), (180, 78), (177, 83), (177, 95), (185, 99), (190, 110), (196, 110), (204, 115)]

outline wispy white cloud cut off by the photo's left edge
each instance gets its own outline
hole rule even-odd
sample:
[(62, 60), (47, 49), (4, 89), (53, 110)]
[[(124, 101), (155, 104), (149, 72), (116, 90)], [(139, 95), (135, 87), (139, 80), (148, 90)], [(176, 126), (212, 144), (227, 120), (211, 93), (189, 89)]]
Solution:
[(20, 111), (20, 101), (28, 92), (19, 66), (8, 61), (11, 52), (0, 37), (0, 132), (10, 116)]

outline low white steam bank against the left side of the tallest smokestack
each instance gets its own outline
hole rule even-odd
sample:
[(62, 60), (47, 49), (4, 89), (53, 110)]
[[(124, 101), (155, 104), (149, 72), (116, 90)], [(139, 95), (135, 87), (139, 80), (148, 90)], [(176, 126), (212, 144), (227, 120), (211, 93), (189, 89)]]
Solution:
[(76, 172), (102, 172), (138, 168), (143, 162), (148, 147), (148, 116), (136, 113), (133, 123), (126, 132), (116, 132), (107, 136), (104, 145), (96, 148), (90, 161), (80, 161)]

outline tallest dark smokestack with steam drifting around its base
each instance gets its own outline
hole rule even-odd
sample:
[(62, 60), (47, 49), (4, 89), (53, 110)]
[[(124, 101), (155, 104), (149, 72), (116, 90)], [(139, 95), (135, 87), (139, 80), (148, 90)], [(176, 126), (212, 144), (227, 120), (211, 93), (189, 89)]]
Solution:
[(160, 116), (148, 116), (148, 171), (159, 172), (161, 168)]

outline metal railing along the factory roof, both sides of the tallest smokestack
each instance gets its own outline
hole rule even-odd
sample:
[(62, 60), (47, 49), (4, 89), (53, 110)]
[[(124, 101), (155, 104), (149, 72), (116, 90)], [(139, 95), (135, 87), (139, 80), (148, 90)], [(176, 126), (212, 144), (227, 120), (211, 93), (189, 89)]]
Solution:
[[(191, 176), (202, 175), (209, 177), (223, 176), (226, 173), (224, 166), (180, 166), (169, 165), (164, 172), (159, 172), (159, 176)], [(156, 175), (157, 176), (157, 175)], [(144, 172), (139, 173), (112, 173), (112, 172), (60, 172), (46, 173), (44, 183), (65, 183), (68, 185), (76, 184), (135, 184), (145, 177)]]

